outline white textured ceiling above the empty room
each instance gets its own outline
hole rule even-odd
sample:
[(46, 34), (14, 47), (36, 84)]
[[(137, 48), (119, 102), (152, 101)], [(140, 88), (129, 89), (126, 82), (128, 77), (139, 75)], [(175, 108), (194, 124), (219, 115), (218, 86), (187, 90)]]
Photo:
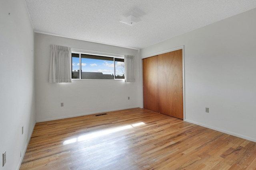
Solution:
[[(256, 0), (25, 0), (37, 33), (141, 49), (256, 8)], [(134, 15), (135, 25), (119, 22)]]

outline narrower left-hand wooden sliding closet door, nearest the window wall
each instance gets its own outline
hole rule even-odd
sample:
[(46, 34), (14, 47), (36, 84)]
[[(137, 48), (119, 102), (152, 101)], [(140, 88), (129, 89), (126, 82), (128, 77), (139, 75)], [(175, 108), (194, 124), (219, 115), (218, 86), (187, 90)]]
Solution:
[(143, 104), (145, 109), (158, 110), (158, 56), (143, 59)]

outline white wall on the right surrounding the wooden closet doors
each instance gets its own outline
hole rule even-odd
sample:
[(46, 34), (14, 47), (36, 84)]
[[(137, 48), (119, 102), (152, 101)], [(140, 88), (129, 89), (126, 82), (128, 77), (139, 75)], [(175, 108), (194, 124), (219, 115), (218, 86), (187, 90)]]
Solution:
[(184, 45), (185, 121), (256, 141), (255, 16), (253, 9), (140, 50), (144, 58)]

